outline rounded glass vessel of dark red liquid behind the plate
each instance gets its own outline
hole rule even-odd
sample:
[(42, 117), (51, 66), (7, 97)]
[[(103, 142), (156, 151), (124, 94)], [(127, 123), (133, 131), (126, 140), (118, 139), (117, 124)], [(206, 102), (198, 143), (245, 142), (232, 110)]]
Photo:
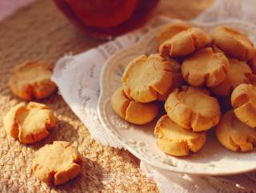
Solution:
[(54, 0), (74, 24), (94, 37), (111, 38), (142, 26), (159, 0)]

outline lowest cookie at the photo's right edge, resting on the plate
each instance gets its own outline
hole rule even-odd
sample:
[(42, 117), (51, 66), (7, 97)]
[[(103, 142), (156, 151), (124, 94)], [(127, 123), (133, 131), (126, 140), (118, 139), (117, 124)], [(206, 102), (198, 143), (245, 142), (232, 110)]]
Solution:
[(256, 129), (250, 128), (234, 115), (226, 112), (216, 127), (218, 141), (233, 152), (248, 152), (256, 144)]

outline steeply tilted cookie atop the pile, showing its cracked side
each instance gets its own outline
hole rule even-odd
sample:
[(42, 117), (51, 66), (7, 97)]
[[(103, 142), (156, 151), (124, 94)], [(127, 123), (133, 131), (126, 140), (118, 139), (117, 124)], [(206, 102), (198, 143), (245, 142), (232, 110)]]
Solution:
[(190, 28), (177, 33), (159, 47), (162, 57), (182, 57), (202, 49), (210, 43), (210, 37), (199, 28)]

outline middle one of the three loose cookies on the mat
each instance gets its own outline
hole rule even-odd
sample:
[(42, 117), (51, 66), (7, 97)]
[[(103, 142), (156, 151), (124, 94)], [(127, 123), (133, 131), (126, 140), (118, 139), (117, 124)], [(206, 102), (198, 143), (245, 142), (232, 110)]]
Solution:
[(56, 124), (54, 112), (45, 104), (17, 104), (3, 120), (6, 133), (23, 144), (33, 144), (49, 135)]

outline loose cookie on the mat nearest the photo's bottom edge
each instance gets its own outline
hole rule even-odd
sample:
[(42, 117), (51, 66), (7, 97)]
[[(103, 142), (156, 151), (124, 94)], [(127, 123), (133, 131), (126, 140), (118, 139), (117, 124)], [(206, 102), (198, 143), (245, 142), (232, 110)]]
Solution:
[(32, 168), (44, 183), (60, 185), (80, 173), (81, 163), (82, 156), (69, 142), (54, 141), (36, 152)]

